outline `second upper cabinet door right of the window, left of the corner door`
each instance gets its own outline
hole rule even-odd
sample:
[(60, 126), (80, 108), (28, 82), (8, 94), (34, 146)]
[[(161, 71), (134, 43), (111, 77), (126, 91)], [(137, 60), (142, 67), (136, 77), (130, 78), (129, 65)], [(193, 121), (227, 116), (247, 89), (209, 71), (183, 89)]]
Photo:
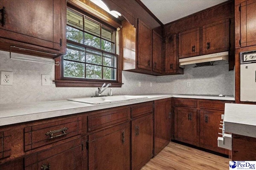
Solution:
[(162, 73), (163, 39), (153, 31), (153, 71)]

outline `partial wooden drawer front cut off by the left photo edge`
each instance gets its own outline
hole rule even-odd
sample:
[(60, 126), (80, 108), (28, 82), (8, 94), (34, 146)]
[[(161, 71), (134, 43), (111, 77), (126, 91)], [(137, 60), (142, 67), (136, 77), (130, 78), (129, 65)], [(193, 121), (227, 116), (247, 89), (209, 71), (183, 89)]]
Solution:
[(0, 131), (0, 159), (11, 155), (11, 133)]

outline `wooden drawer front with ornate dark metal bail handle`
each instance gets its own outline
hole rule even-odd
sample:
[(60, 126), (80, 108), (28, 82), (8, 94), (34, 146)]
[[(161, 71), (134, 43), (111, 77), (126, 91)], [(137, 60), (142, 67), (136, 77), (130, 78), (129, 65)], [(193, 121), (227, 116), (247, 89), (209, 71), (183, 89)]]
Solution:
[(47, 145), (80, 134), (82, 117), (24, 127), (24, 150)]

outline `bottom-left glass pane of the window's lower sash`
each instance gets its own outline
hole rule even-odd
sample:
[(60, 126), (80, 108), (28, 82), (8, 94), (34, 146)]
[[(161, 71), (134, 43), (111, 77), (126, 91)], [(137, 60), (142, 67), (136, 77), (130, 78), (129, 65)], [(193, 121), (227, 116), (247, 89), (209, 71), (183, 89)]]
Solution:
[(84, 64), (64, 60), (64, 77), (84, 78)]

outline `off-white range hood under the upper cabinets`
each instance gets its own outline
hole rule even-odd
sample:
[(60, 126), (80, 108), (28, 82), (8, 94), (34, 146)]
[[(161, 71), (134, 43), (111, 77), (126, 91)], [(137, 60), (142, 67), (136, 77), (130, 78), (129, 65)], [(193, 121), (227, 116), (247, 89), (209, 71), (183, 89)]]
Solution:
[(210, 61), (228, 60), (228, 51), (222, 53), (214, 53), (208, 55), (200, 55), (196, 57), (188, 57), (180, 59), (180, 66), (187, 64), (205, 63)]

